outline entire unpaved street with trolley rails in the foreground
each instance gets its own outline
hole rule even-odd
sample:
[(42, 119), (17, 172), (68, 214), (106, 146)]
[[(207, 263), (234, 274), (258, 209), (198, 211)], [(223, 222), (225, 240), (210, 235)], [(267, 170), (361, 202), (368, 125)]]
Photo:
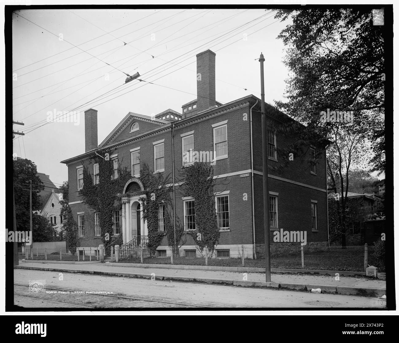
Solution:
[[(314, 294), (299, 291), (241, 288), (192, 282), (161, 281), (14, 269), (14, 284), (28, 285), (30, 280), (45, 280), (46, 288), (71, 291), (112, 292), (113, 295), (140, 298), (127, 302), (117, 297), (89, 294), (65, 294), (62, 300), (51, 293), (31, 292), (29, 287), (14, 286), (14, 304), (22, 307), (216, 307), (216, 308), (384, 308), (386, 300), (353, 295)], [(39, 297), (41, 300), (26, 297)], [(79, 298), (78, 298), (79, 297)], [(57, 301), (70, 303), (51, 302)], [(65, 300), (66, 299), (66, 300)], [(47, 300), (47, 301), (46, 301)], [(48, 301), (51, 300), (51, 301)], [(160, 302), (157, 302), (160, 301)], [(86, 305), (87, 303), (91, 305)], [(176, 303), (176, 305), (174, 305)], [(178, 305), (182, 304), (182, 305)]]

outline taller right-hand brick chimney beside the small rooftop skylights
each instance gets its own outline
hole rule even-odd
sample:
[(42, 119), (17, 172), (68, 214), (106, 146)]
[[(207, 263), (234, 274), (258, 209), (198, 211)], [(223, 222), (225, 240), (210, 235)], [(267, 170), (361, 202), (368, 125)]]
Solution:
[(216, 106), (215, 56), (211, 50), (197, 54), (197, 113)]

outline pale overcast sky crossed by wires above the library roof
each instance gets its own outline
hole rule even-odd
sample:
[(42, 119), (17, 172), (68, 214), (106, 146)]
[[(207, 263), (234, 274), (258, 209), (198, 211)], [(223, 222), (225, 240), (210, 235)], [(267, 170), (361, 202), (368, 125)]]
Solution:
[[(14, 153), (61, 184), (67, 166), (60, 161), (85, 152), (85, 110), (98, 111), (99, 143), (128, 112), (181, 113), (181, 106), (196, 98), (195, 56), (207, 49), (216, 53), (217, 101), (260, 98), (261, 52), (265, 100), (283, 100), (288, 70), (277, 36), (289, 21), (281, 23), (274, 14), (264, 9), (18, 11), (12, 32), (13, 120), (25, 126), (13, 129), (26, 134), (14, 140)], [(124, 73), (136, 72), (156, 84), (124, 84)], [(77, 112), (71, 117), (75, 122), (48, 122), (54, 111), (80, 111), (80, 122)]]

